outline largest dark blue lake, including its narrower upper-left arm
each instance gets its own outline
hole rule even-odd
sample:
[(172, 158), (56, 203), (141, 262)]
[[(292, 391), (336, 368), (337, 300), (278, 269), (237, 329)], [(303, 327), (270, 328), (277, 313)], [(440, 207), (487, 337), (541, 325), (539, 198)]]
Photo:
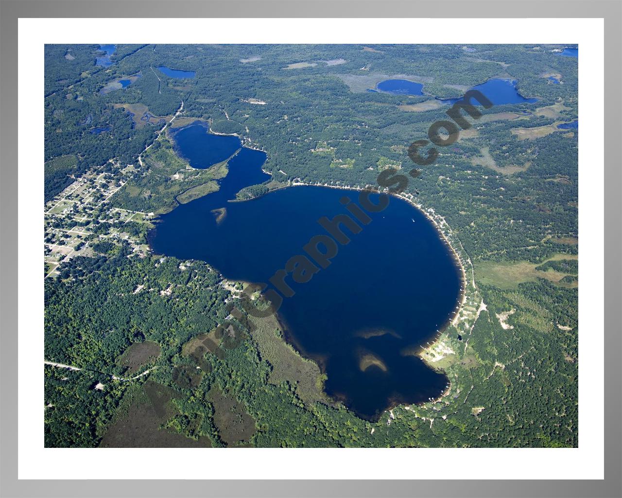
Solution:
[[(209, 167), (240, 149), (235, 137), (189, 126), (176, 147), (194, 167)], [(359, 192), (298, 186), (231, 202), (244, 186), (266, 181), (266, 154), (241, 148), (220, 190), (162, 215), (149, 235), (155, 253), (207, 261), (231, 280), (268, 283), (315, 235), (318, 219), (348, 214)], [(371, 195), (378, 202), (378, 194)], [(216, 221), (214, 210), (225, 208)], [(442, 330), (460, 297), (460, 272), (436, 228), (406, 201), (367, 212), (360, 233), (343, 232), (330, 265), (306, 283), (285, 278), (294, 296), (278, 311), (287, 340), (327, 373), (328, 395), (369, 420), (396, 403), (438, 397), (448, 380), (413, 355)], [(334, 235), (329, 235), (335, 237)], [(320, 246), (320, 249), (323, 248)], [(273, 288), (272, 285), (269, 288)]]

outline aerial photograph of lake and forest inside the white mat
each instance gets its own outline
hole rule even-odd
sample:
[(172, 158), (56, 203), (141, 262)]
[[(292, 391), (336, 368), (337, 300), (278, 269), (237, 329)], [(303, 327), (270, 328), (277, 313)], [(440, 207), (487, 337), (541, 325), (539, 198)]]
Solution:
[(46, 448), (578, 447), (577, 44), (44, 56)]

